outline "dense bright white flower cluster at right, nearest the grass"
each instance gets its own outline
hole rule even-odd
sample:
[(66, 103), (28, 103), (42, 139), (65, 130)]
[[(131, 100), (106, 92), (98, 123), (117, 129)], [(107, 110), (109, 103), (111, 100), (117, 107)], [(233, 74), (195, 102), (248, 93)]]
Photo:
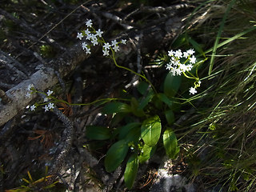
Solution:
[[(186, 71), (190, 71), (193, 68), (193, 64), (196, 62), (196, 58), (194, 57), (194, 50), (187, 50), (182, 53), (182, 50), (169, 50), (168, 56), (170, 57), (170, 62), (167, 63), (166, 69), (170, 70), (170, 73), (175, 75), (181, 75), (182, 73), (186, 73)], [(186, 59), (184, 63), (181, 63), (181, 58)], [(186, 65), (186, 62), (190, 62), (190, 64)]]

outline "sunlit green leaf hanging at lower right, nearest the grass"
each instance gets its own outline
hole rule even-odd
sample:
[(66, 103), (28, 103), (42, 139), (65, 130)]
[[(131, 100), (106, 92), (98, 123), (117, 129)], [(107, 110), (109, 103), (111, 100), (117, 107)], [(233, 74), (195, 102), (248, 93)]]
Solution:
[(179, 147), (174, 131), (167, 128), (162, 135), (163, 146), (169, 158), (177, 158)]

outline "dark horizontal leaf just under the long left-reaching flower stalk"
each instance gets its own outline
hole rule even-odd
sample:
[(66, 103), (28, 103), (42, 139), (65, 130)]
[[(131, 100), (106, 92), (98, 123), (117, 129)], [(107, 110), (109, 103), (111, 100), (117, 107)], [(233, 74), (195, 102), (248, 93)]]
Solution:
[(110, 102), (102, 109), (104, 114), (129, 113), (130, 106), (124, 102)]

